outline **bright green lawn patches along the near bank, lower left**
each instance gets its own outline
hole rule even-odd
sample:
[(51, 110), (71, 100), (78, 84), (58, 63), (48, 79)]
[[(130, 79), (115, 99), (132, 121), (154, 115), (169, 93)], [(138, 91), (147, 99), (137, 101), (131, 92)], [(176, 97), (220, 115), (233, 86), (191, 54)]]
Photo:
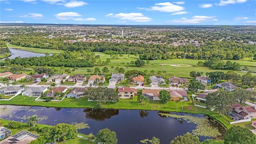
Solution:
[[(20, 123), (21, 126), (19, 128), (11, 128), (8, 126), (8, 122), (10, 122), (9, 120), (3, 120), (0, 119), (0, 121), (3, 122), (2, 126), (4, 126), (5, 128), (8, 128), (9, 130), (12, 131), (12, 135), (22, 131), (22, 130), (26, 130), (28, 132), (31, 132), (33, 134), (37, 134), (38, 136), (42, 136), (42, 132), (37, 131), (30, 131), (28, 125), (26, 123)], [(36, 124), (36, 126), (38, 128), (42, 128), (44, 126), (48, 126), (48, 125), (44, 125), (44, 124)], [(58, 144), (95, 144), (95, 142), (91, 142), (89, 140), (82, 140), (81, 138), (74, 138), (74, 139), (70, 139), (70, 140), (66, 140), (66, 142), (58, 142)]]

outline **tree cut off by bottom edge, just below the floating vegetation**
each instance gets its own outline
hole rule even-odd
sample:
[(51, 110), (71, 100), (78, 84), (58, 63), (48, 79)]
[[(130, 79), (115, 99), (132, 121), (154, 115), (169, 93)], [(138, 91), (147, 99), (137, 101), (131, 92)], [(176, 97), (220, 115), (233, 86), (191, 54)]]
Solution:
[(183, 134), (183, 136), (175, 137), (170, 144), (200, 144), (200, 141), (198, 136), (194, 136), (187, 132), (186, 134)]

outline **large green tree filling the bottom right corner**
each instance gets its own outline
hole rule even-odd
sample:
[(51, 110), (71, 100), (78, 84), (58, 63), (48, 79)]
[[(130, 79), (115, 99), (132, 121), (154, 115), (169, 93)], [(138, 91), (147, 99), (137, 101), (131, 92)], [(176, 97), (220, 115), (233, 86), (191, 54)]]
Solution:
[(256, 144), (255, 138), (248, 128), (232, 126), (224, 136), (224, 144)]

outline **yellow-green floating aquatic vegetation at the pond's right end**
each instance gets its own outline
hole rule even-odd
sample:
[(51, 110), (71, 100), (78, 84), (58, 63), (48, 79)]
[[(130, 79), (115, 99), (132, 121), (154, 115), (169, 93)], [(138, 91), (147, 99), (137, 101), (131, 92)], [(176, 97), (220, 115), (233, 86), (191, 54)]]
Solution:
[(177, 115), (177, 114), (164, 114), (159, 113), (161, 116), (170, 116), (173, 118), (178, 118), (182, 120), (186, 120), (188, 123), (196, 124), (196, 129), (192, 130), (192, 134), (196, 136), (209, 136), (212, 138), (216, 138), (222, 135), (218, 128), (211, 126), (210, 120), (208, 120), (208, 116), (198, 117), (198, 116), (190, 116), (190, 115)]

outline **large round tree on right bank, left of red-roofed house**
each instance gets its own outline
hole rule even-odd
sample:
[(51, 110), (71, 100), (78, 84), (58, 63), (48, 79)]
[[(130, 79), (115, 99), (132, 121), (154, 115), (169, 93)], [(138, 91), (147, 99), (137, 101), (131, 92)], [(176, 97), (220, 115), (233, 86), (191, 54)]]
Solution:
[(206, 96), (206, 105), (208, 108), (215, 106), (220, 114), (230, 112), (232, 104), (236, 102), (236, 97), (226, 91), (216, 91)]

